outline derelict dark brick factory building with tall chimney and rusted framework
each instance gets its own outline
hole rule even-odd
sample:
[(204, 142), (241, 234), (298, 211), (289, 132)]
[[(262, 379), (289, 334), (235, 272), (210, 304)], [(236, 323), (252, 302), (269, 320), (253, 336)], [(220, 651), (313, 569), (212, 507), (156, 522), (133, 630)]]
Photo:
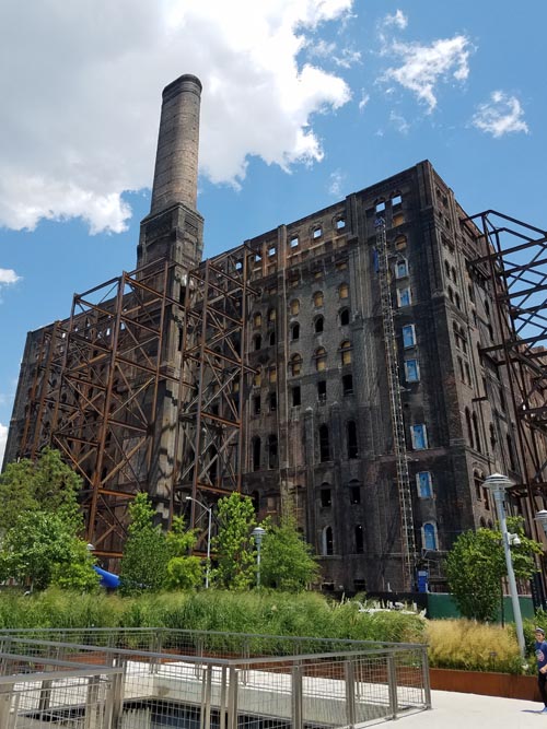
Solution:
[[(420, 568), (442, 585), (454, 539), (496, 520), (487, 474), (520, 484), (526, 517), (545, 483), (543, 421), (519, 407), (544, 404), (540, 337), (524, 346), (503, 308), (509, 228), (468, 219), (421, 162), (201, 261), (200, 92), (164, 90), (136, 271), (28, 334), (5, 462), (60, 448), (105, 557), (139, 490), (167, 526), (241, 490), (296, 518), (325, 589), (411, 589)], [(509, 342), (535, 352), (521, 379)]]

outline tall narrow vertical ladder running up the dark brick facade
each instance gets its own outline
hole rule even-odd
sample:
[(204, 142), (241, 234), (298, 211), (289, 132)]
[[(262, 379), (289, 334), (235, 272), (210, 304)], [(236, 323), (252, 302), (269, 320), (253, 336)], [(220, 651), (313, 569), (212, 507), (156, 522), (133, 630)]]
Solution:
[(377, 270), (382, 304), (382, 322), (384, 328), (385, 360), (387, 365), (387, 384), (389, 390), (389, 410), (393, 424), (393, 442), (397, 467), (397, 492), (400, 509), (400, 530), (403, 546), (403, 564), (405, 588), (414, 589), (414, 572), (416, 567), (416, 539), (412, 517), (412, 493), (408, 474), (406, 454), (405, 423), (400, 400), (399, 366), (397, 361), (397, 341), (395, 338), (392, 292), (389, 285), (389, 268), (387, 258), (387, 239), (385, 220), (381, 216), (374, 222), (376, 228)]

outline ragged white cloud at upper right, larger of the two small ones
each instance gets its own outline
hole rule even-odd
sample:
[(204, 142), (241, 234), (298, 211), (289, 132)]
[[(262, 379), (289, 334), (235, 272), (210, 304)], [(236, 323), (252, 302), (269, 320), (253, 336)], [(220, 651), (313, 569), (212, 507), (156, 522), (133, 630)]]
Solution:
[(399, 57), (403, 64), (389, 68), (383, 80), (396, 81), (414, 92), (431, 113), (437, 106), (435, 86), (450, 79), (465, 81), (469, 75), (468, 59), (473, 50), (464, 35), (440, 38), (429, 46), (418, 43), (393, 42), (383, 55)]

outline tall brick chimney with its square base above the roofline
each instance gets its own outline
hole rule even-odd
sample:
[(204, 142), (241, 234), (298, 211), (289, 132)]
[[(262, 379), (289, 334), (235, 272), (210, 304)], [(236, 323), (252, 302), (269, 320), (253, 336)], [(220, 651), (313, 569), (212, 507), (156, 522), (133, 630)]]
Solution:
[(203, 219), (198, 192), (201, 82), (185, 73), (163, 90), (150, 214), (141, 222), (137, 268), (167, 258), (185, 269), (199, 264)]

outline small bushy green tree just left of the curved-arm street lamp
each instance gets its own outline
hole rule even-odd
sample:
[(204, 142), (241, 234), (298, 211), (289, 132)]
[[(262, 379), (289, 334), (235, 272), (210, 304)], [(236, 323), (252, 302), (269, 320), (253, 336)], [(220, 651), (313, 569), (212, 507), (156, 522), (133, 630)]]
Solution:
[(166, 536), (168, 562), (165, 587), (168, 590), (189, 590), (203, 581), (201, 560), (188, 556), (196, 541), (196, 531), (186, 529), (183, 517), (175, 517)]

